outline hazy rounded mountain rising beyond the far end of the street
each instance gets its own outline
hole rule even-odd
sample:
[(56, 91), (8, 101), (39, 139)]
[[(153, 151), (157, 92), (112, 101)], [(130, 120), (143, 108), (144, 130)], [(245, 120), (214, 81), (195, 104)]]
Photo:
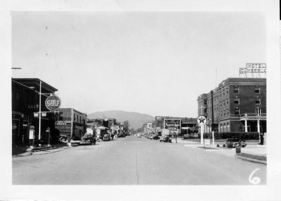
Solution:
[(88, 114), (88, 119), (103, 117), (115, 118), (118, 122), (123, 122), (127, 120), (129, 121), (130, 128), (133, 128), (134, 130), (142, 127), (144, 123), (154, 120), (154, 117), (151, 115), (118, 110), (95, 112)]

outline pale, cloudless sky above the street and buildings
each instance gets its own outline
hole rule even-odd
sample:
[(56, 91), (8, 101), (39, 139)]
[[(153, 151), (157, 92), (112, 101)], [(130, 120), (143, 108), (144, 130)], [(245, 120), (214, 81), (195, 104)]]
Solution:
[(196, 118), (200, 94), (266, 63), (265, 28), (257, 12), (12, 12), (12, 77), (61, 108)]

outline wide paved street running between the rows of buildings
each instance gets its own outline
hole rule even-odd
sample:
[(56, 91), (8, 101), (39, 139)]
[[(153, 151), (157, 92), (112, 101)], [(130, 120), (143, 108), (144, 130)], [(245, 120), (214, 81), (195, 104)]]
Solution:
[(248, 185), (257, 168), (266, 184), (266, 165), (135, 136), (12, 160), (13, 184)]

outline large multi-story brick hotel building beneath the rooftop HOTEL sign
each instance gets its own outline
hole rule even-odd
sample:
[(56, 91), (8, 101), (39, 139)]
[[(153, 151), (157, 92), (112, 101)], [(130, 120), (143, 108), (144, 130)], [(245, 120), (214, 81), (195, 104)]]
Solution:
[[(198, 96), (198, 116), (212, 131), (212, 93)], [(228, 78), (213, 90), (215, 132), (266, 133), (266, 78)]]

